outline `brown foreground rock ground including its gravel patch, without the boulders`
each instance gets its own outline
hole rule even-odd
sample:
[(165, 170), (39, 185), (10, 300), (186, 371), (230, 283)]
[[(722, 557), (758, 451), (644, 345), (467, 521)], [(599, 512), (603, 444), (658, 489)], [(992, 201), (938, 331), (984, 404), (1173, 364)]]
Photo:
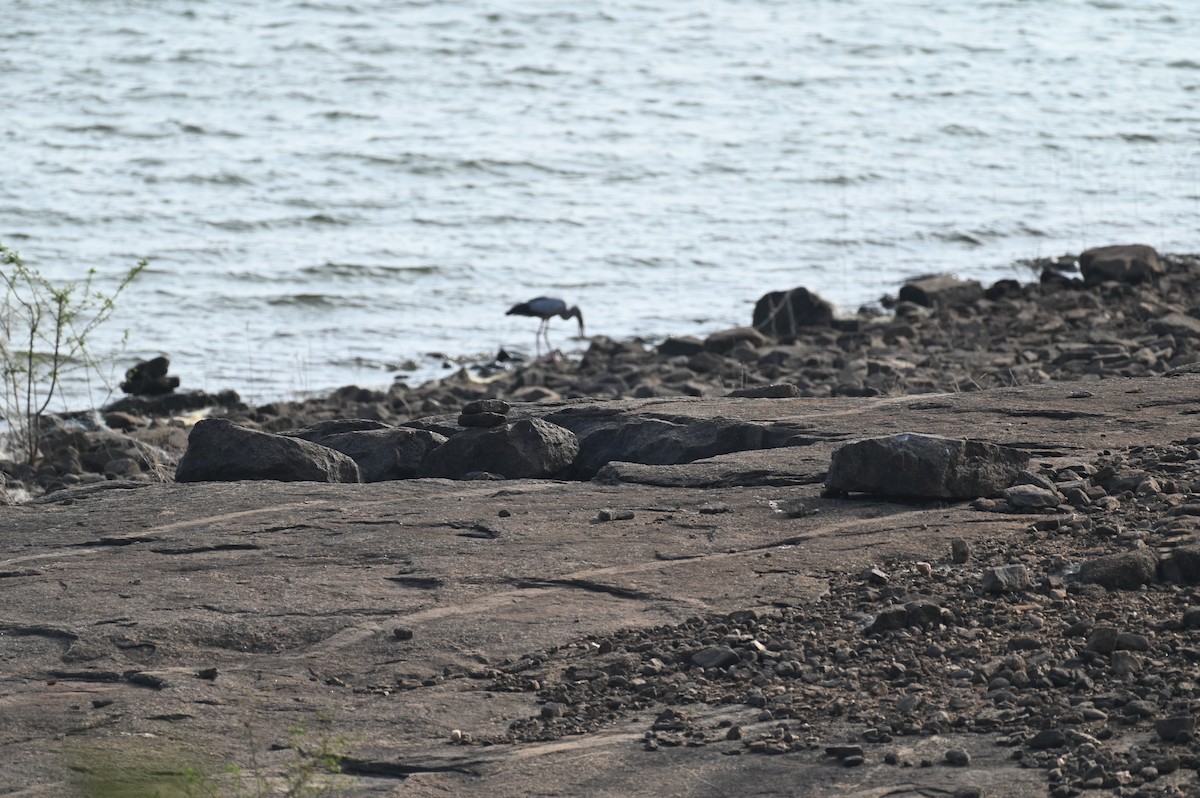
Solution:
[[(0, 506), (0, 792), (233, 794), (236, 763), (284, 794), (330, 751), (308, 785), (355, 796), (1200, 792), (1200, 377), (514, 413), (580, 407), (804, 434)], [(1062, 502), (823, 496), (899, 432), (1027, 451)]]

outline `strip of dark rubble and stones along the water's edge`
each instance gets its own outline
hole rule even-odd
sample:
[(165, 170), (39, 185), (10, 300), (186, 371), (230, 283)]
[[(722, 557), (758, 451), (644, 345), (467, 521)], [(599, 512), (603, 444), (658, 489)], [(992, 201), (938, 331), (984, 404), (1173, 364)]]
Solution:
[[(889, 312), (864, 307), (850, 318), (835, 318), (804, 288), (774, 292), (752, 324), (704, 340), (648, 347), (595, 337), (578, 361), (524, 364), (502, 353), (420, 386), (352, 385), (259, 407), (233, 391), (131, 395), (101, 410), (103, 425), (88, 414), (59, 419), (40, 469), (0, 462), (0, 470), (10, 488), (34, 494), (109, 479), (169, 481), (191, 425), (211, 416), (277, 433), (344, 419), (403, 426), (484, 400), (901, 396), (1145, 377), (1200, 361), (1200, 256), (1130, 245), (1028, 265), (1037, 282), (985, 288), (932, 276), (883, 298)], [(174, 379), (166, 370), (160, 378)]]

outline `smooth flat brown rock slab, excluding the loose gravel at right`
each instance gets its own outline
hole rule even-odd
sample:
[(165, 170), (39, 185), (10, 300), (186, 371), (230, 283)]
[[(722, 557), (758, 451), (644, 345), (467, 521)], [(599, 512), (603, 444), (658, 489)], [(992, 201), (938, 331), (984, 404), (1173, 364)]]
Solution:
[[(542, 713), (533, 692), (492, 678), (526, 654), (697, 616), (803, 608), (834, 572), (889, 558), (948, 563), (952, 539), (1015, 548), (1027, 535), (1028, 516), (964, 504), (822, 498), (828, 455), (846, 440), (971, 430), (1034, 463), (1091, 457), (1194, 434), (1198, 388), (1182, 377), (616, 402), (619, 413), (786, 422), (812, 443), (630, 467), (622, 479), (636, 481), (612, 484), (113, 482), (0, 506), (0, 792), (70, 794), (80, 770), (125, 758), (245, 767), (248, 749), (259, 767), (286, 772), (288, 730), (316, 733), (328, 715), (347, 740), (349, 794), (724, 796), (748, 784), (779, 796), (797, 785), (814, 796), (1045, 794), (1040, 772), (980, 734), (893, 745), (913, 761), (940, 762), (952, 745), (971, 756), (970, 768), (913, 769), (882, 764), (877, 750), (858, 768), (820, 746), (648, 751), (661, 707), (553, 740), (464, 742)], [(757, 481), (722, 484), (730, 469)], [(773, 482), (776, 470), (785, 476)], [(779, 509), (797, 502), (806, 512)], [(601, 510), (623, 520), (601, 521)], [(749, 707), (689, 712), (770, 726)], [(842, 742), (836, 721), (817, 731)]]

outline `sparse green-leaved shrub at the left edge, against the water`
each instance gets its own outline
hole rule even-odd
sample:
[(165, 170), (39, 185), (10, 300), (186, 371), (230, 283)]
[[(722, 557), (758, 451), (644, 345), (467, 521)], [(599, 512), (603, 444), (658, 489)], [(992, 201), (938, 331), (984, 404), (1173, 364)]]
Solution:
[(116, 298), (146, 268), (139, 260), (112, 293), (80, 282), (56, 284), (0, 245), (0, 398), (13, 450), (29, 466), (42, 457), (42, 416), (62, 377), (76, 370), (101, 376), (88, 340), (116, 308)]

